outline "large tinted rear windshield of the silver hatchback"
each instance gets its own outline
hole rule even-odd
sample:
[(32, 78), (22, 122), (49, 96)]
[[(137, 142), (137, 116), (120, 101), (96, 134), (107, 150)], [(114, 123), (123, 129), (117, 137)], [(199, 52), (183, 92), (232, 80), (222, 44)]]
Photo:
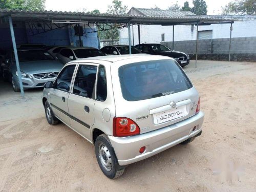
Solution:
[(131, 63), (118, 69), (123, 98), (138, 101), (185, 91), (191, 82), (174, 60)]

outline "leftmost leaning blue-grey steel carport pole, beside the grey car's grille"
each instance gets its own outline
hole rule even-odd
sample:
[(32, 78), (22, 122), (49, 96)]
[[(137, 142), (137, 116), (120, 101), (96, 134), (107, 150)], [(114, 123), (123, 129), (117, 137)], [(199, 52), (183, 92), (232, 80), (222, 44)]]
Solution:
[(16, 67), (17, 67), (17, 72), (18, 72), (18, 81), (19, 81), (20, 93), (24, 97), (24, 89), (23, 89), (23, 84), (22, 84), (22, 75), (20, 74), (19, 61), (18, 61), (18, 53), (17, 53), (16, 41), (15, 41), (13, 25), (12, 25), (12, 17), (8, 16), (8, 19), (9, 19), (9, 25), (10, 25), (10, 30), (11, 30), (12, 46), (13, 46), (13, 51), (14, 51), (14, 57), (15, 57), (15, 62), (16, 62)]

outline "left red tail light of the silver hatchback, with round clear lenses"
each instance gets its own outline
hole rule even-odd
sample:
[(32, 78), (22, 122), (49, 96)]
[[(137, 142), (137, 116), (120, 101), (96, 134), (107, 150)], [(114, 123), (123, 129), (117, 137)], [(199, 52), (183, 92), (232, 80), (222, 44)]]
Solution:
[(114, 117), (113, 136), (127, 137), (140, 134), (140, 127), (132, 120), (126, 117)]

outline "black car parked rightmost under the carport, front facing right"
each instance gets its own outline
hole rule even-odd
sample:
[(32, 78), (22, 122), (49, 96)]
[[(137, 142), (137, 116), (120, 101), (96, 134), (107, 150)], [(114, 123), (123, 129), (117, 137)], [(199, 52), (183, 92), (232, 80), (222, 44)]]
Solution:
[(172, 50), (162, 44), (139, 44), (135, 47), (140, 49), (142, 53), (173, 57), (181, 67), (189, 63), (189, 56), (186, 53)]

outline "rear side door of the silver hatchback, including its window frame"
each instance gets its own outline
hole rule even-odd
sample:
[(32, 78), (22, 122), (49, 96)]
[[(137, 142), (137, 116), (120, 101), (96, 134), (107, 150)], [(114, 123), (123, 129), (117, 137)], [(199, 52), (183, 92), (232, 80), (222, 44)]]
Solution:
[(94, 124), (95, 80), (97, 64), (79, 63), (72, 93), (69, 95), (69, 120), (71, 127), (90, 139)]

